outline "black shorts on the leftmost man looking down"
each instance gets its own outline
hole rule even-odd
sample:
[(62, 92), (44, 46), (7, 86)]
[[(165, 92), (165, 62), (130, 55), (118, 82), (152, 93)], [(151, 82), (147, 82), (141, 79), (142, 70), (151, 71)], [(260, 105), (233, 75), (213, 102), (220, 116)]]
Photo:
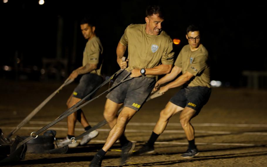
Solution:
[[(77, 98), (84, 98), (89, 93), (91, 93), (93, 90), (95, 90), (100, 84), (102, 84), (103, 78), (97, 74), (83, 74), (80, 83), (78, 86), (74, 89), (72, 96)], [(90, 100), (96, 92), (94, 92), (89, 98), (86, 100)]]

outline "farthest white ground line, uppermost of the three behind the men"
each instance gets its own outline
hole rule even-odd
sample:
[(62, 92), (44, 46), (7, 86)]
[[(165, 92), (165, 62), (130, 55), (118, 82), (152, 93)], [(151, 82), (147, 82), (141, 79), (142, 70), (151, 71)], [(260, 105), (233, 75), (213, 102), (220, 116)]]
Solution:
[[(30, 124), (47, 125), (48, 121), (30, 121)], [(92, 125), (96, 125), (98, 122), (90, 122)], [(58, 125), (67, 125), (67, 122), (58, 122)], [(127, 125), (130, 126), (155, 126), (156, 123), (138, 123), (129, 122)], [(233, 124), (233, 123), (192, 123), (193, 126), (221, 126), (221, 127), (267, 127), (267, 124)], [(181, 126), (180, 123), (168, 123), (168, 126)]]

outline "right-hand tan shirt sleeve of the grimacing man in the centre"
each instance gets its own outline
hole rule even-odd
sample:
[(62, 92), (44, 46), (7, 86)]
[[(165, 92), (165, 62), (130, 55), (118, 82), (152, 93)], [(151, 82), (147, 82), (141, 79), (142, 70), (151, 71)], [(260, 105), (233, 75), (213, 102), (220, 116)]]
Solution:
[(161, 63), (170, 65), (174, 62), (173, 41), (169, 38), (161, 57)]

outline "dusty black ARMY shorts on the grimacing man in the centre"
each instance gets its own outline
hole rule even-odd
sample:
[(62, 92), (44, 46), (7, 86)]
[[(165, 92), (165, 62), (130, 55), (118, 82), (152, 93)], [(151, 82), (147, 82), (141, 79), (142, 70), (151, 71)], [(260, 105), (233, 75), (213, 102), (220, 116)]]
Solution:
[[(124, 70), (114, 81), (113, 85), (119, 83), (126, 74), (128, 74), (128, 71)], [(106, 97), (117, 104), (124, 103), (124, 106), (138, 111), (148, 98), (155, 83), (155, 78), (146, 76), (135, 77), (114, 88)]]

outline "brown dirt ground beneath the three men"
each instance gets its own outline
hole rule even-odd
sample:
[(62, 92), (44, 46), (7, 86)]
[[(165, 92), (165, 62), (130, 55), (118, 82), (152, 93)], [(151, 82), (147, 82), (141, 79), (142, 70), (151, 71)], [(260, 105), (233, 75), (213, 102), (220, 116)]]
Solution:
[[(62, 83), (0, 80), (0, 128), (7, 136), (35, 107), (55, 91)], [(29, 136), (53, 121), (66, 110), (67, 98), (77, 83), (63, 88), (29, 123), (14, 136)], [(99, 90), (107, 89), (104, 86)], [(151, 135), (160, 110), (179, 88), (169, 90), (163, 96), (152, 99), (132, 118), (126, 127), (126, 136), (141, 147)], [(173, 116), (155, 144), (153, 154), (133, 156), (124, 166), (267, 166), (267, 91), (244, 88), (213, 88), (209, 102), (200, 114), (192, 119), (195, 141), (200, 155), (187, 159), (181, 153), (187, 149), (187, 140), (179, 124), (179, 114)], [(105, 96), (83, 107), (88, 121), (95, 125), (102, 121)], [(67, 134), (66, 119), (52, 126), (57, 138)], [(80, 123), (76, 135), (83, 132)], [(26, 153), (25, 160), (7, 166), (88, 166), (94, 154), (102, 148), (108, 135), (107, 125), (99, 129), (99, 135), (86, 146), (70, 148), (65, 154)], [(120, 147), (116, 143), (106, 154), (102, 166), (119, 166)]]

